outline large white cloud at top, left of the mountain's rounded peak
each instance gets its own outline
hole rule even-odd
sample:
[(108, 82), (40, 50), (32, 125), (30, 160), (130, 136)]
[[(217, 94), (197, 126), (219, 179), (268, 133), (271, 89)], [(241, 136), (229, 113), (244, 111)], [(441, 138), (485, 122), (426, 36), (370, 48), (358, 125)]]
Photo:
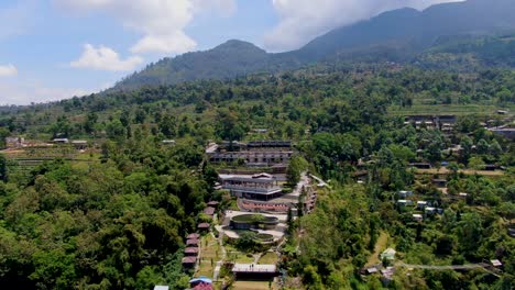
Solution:
[(118, 19), (125, 27), (142, 34), (131, 47), (133, 53), (182, 54), (194, 49), (197, 43), (184, 30), (195, 14), (235, 11), (235, 0), (53, 0), (66, 11), (105, 12)]

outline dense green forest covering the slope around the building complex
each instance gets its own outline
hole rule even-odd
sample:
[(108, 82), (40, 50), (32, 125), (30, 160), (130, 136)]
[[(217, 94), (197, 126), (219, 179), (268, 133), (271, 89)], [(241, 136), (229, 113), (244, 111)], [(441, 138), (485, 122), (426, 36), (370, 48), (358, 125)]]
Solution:
[[(387, 63), (4, 108), (2, 141), (83, 138), (98, 150), (88, 163), (57, 158), (31, 170), (0, 155), (0, 282), (28, 289), (186, 287), (179, 263), (185, 236), (206, 202), (221, 200), (205, 146), (264, 138), (294, 141), (309, 170), (330, 180), (316, 210), (292, 224), (283, 249), (281, 267), (304, 288), (382, 289), (379, 278), (360, 270), (387, 239), (406, 264), (504, 264), (502, 274), (398, 270), (390, 289), (513, 289), (515, 239), (506, 226), (515, 219), (515, 146), (481, 123), (503, 124), (495, 111), (514, 104), (512, 70), (459, 74)], [(463, 107), (469, 113), (459, 111)], [(405, 115), (428, 110), (458, 110), (451, 134), (405, 123)], [(252, 133), (263, 127), (266, 133)], [(463, 148), (459, 155), (447, 150), (456, 144)], [(431, 185), (438, 174), (408, 167), (443, 161), (446, 194)], [(486, 164), (505, 170), (495, 177), (465, 171)], [(357, 183), (363, 170), (368, 180)], [(445, 212), (413, 222), (393, 202), (405, 189)], [(469, 196), (449, 198), (459, 192)]]

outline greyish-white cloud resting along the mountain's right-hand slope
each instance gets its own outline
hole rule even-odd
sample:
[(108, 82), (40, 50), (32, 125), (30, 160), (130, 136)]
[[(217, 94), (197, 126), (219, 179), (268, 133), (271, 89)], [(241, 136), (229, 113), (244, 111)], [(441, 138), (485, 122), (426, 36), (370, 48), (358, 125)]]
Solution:
[(330, 30), (388, 10), (457, 1), (462, 0), (272, 0), (280, 23), (265, 34), (264, 43), (274, 52), (295, 49)]

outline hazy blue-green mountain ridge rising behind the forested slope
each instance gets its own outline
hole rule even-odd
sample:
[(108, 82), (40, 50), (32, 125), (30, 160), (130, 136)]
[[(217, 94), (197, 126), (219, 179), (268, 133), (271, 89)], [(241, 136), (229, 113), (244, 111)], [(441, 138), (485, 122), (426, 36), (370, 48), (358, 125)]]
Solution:
[(121, 80), (113, 90), (230, 79), (294, 69), (317, 62), (412, 62), (439, 45), (445, 37), (482, 36), (515, 30), (514, 13), (514, 0), (468, 0), (437, 4), (424, 11), (398, 9), (336, 29), (298, 51), (281, 54), (266, 53), (251, 43), (229, 41), (206, 52), (187, 53), (149, 65)]

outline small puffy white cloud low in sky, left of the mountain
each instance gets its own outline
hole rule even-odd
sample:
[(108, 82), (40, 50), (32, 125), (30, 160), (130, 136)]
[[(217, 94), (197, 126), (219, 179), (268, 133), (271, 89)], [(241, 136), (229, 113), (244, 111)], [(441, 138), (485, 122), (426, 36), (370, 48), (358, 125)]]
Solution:
[[(96, 0), (100, 1), (100, 0)], [(83, 55), (78, 60), (69, 65), (75, 68), (89, 68), (97, 70), (127, 71), (134, 70), (143, 59), (139, 56), (131, 56), (124, 60), (113, 49), (100, 45), (95, 47), (90, 44), (84, 46)]]

